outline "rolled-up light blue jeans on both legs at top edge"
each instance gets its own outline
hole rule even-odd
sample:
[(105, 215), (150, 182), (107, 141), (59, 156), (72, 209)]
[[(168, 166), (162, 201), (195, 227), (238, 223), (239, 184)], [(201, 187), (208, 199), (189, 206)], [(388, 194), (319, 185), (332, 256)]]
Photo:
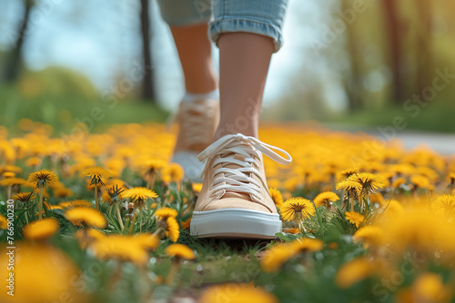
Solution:
[(215, 44), (220, 34), (234, 32), (266, 35), (273, 39), (275, 52), (283, 44), (282, 27), (288, 0), (157, 1), (163, 19), (171, 26), (209, 23), (208, 35)]

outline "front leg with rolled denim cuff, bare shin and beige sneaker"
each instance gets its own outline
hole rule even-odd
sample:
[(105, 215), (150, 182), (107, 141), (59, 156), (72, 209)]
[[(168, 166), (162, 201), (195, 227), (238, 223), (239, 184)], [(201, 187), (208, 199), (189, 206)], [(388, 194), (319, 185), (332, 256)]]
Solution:
[(205, 161), (204, 183), (191, 235), (273, 239), (281, 231), (262, 156), (282, 164), (291, 158), (258, 140), (258, 119), (286, 5), (286, 0), (214, 0), (210, 36), (219, 48), (221, 121), (215, 142), (198, 156)]

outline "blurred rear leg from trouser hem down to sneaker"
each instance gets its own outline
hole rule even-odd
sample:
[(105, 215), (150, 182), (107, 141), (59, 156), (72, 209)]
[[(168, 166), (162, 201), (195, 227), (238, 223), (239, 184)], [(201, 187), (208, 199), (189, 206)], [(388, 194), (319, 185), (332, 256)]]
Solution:
[[(204, 1), (207, 5), (200, 5)], [(197, 161), (197, 154), (212, 142), (219, 119), (217, 75), (207, 34), (209, 0), (158, 3), (170, 26), (185, 76), (186, 93), (175, 119), (179, 131), (172, 161), (183, 167), (187, 179), (201, 181), (203, 165)]]

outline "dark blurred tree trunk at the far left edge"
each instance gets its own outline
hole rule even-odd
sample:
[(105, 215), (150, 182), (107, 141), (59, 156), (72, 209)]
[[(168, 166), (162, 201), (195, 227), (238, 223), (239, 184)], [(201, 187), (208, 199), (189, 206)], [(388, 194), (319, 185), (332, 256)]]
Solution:
[(23, 0), (23, 3), (24, 16), (22, 17), (22, 22), (19, 24), (15, 46), (11, 49), (9, 54), (6, 54), (4, 78), (7, 83), (15, 83), (19, 77), (22, 68), (22, 49), (30, 20), (30, 11), (35, 5), (35, 0)]

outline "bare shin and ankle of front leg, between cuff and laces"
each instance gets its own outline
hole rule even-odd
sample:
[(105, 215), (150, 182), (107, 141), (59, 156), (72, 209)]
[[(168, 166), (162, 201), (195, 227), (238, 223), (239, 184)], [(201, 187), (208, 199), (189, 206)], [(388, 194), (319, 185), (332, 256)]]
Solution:
[(214, 141), (238, 132), (258, 138), (273, 40), (259, 34), (227, 33), (220, 35), (218, 47), (221, 116)]

